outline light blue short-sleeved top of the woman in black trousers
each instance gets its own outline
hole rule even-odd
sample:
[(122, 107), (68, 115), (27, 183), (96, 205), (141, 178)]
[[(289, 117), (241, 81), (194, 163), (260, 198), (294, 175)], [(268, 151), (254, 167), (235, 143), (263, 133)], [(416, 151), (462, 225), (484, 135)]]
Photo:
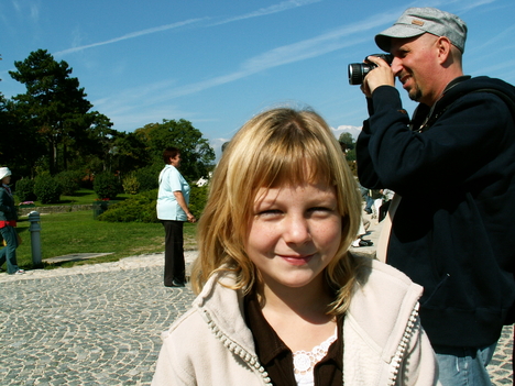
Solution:
[(186, 212), (178, 205), (174, 191), (180, 191), (186, 205), (189, 203), (189, 185), (175, 166), (166, 165), (160, 174), (160, 191), (157, 194), (157, 219), (187, 221)]

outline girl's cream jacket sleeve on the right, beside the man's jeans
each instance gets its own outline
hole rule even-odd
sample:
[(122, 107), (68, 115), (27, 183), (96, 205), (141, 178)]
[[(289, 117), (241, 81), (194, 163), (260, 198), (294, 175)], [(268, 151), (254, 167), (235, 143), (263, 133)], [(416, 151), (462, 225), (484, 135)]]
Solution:
[(418, 328), (408, 343), (397, 384), (405, 386), (441, 386), (438, 377), (438, 363), (435, 352), (426, 332), (418, 323)]

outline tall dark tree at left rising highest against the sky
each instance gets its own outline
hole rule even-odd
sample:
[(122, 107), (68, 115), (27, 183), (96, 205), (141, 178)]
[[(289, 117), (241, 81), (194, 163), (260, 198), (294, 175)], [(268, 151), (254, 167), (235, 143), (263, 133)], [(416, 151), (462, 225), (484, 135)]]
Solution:
[(9, 74), (26, 87), (25, 93), (13, 98), (18, 111), (46, 141), (51, 174), (66, 169), (69, 148), (87, 136), (85, 131), (91, 120), (87, 112), (92, 104), (86, 100), (78, 79), (70, 77), (73, 69), (68, 64), (57, 63), (46, 49), (32, 52), (25, 60), (14, 62), (14, 66), (18, 70)]

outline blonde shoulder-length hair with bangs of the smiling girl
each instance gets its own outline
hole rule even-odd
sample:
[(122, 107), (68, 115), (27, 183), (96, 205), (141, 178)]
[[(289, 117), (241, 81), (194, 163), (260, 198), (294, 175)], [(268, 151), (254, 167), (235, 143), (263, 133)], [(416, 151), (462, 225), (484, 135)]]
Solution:
[(199, 293), (209, 276), (220, 271), (235, 275), (234, 288), (251, 290), (259, 276), (244, 243), (258, 190), (306, 183), (336, 188), (342, 236), (325, 275), (335, 293), (329, 312), (343, 313), (358, 269), (347, 251), (361, 221), (361, 198), (335, 135), (310, 110), (278, 108), (262, 112), (230, 141), (212, 176), (198, 224), (194, 290)]

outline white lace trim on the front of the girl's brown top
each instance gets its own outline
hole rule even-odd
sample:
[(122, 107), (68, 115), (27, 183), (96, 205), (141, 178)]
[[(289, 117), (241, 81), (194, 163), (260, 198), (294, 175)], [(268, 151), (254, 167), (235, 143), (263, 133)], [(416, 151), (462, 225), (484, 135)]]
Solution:
[(296, 351), (293, 353), (295, 381), (298, 386), (314, 386), (315, 377), (313, 371), (315, 365), (327, 355), (329, 346), (337, 340), (338, 330), (325, 342), (313, 348), (311, 351)]

